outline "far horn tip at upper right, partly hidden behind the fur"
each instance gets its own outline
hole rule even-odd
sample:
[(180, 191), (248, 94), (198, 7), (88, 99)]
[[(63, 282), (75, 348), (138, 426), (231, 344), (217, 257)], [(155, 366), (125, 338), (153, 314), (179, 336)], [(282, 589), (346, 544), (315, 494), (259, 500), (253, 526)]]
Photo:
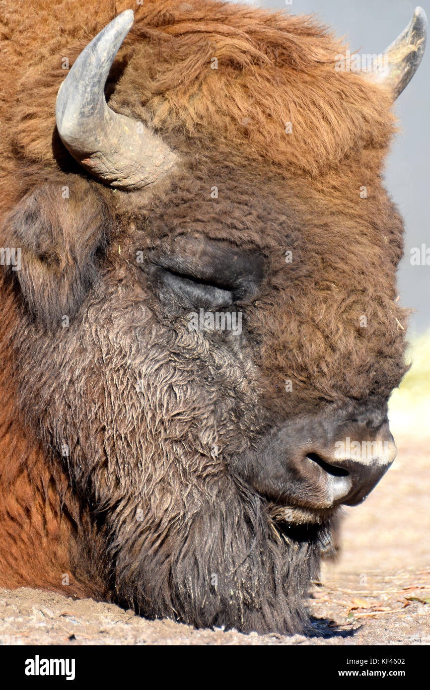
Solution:
[(417, 7), (407, 28), (384, 51), (384, 64), (373, 62), (369, 77), (393, 92), (393, 100), (400, 96), (418, 70), (427, 39), (427, 17)]

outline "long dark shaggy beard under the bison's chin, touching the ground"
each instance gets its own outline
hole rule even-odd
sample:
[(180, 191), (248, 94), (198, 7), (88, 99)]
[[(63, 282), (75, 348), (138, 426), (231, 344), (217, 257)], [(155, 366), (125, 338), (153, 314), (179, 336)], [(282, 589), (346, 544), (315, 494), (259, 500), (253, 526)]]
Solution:
[(118, 602), (197, 628), (310, 633), (304, 599), (319, 578), (329, 522), (275, 521), (266, 500), (235, 489), (169, 529), (145, 524), (149, 515), (139, 526), (116, 525), (110, 555)]

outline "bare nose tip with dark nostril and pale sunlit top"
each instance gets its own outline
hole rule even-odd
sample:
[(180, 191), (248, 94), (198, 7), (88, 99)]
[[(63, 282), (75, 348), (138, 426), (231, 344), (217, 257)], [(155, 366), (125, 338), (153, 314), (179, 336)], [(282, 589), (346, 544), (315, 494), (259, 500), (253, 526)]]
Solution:
[(331, 452), (306, 453), (304, 466), (316, 472), (320, 495), (326, 504), (355, 506), (375, 488), (393, 462), (397, 449), (388, 429), (373, 439), (344, 437)]

